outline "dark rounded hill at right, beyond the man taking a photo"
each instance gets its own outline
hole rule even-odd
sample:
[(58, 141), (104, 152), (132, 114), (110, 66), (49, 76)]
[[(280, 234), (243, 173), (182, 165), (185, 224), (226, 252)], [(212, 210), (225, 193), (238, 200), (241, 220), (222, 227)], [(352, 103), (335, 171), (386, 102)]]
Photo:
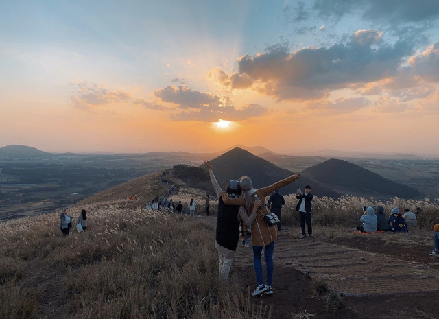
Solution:
[(302, 175), (316, 180), (337, 191), (361, 196), (381, 196), (381, 198), (398, 196), (399, 198), (416, 198), (418, 189), (393, 182), (381, 175), (370, 172), (348, 161), (330, 159), (324, 163), (309, 167)]

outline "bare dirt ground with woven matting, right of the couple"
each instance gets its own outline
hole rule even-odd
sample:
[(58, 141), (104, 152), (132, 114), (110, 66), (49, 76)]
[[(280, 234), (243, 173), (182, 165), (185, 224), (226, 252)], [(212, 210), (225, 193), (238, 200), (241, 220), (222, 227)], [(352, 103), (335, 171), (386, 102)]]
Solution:
[[(274, 294), (254, 298), (272, 306), (272, 318), (439, 318), (439, 258), (424, 244), (385, 237), (392, 234), (298, 239), (298, 228), (284, 230), (274, 248)], [(243, 292), (254, 290), (252, 248), (239, 244), (230, 278)], [(314, 279), (344, 292), (341, 309), (327, 311)]]

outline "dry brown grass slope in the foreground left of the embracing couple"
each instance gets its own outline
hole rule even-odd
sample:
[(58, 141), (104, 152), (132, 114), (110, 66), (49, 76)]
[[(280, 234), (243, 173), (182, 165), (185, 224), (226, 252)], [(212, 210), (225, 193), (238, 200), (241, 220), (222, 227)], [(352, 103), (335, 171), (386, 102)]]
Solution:
[(67, 237), (57, 213), (0, 224), (0, 318), (270, 318), (219, 280), (213, 226), (130, 205)]

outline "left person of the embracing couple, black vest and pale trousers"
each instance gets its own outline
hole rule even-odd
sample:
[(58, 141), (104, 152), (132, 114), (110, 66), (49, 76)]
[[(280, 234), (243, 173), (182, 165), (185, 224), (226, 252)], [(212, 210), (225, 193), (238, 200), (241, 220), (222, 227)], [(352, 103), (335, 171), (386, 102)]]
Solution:
[[(256, 215), (256, 210), (252, 214), (247, 215), (245, 210), (240, 212), (237, 205), (224, 204), (223, 196), (225, 198), (239, 198), (241, 196), (242, 191), (239, 182), (237, 180), (230, 180), (226, 186), (226, 191), (223, 191), (213, 174), (212, 164), (209, 161), (204, 161), (204, 165), (209, 170), (212, 186), (218, 198), (215, 248), (218, 251), (219, 257), (219, 276), (227, 280), (239, 242), (239, 224), (242, 221), (250, 226)], [(257, 207), (258, 205), (254, 206)]]

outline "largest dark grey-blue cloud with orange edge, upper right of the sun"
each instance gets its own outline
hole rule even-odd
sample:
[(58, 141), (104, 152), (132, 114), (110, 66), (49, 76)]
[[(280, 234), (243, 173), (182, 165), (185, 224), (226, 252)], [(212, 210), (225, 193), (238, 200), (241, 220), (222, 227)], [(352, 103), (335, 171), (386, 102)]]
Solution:
[(252, 88), (279, 101), (322, 99), (335, 89), (396, 75), (413, 48), (408, 40), (388, 45), (382, 32), (359, 30), (346, 43), (295, 52), (275, 45), (254, 56), (239, 57), (237, 72), (214, 71), (217, 81), (230, 90)]

